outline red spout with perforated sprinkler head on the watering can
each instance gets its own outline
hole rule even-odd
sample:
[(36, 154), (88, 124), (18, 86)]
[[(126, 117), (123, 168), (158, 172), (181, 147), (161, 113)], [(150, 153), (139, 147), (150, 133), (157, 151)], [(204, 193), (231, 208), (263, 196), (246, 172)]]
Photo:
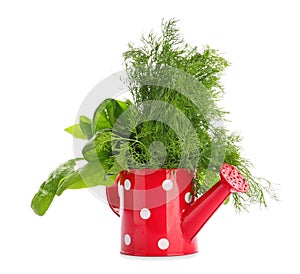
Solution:
[(232, 192), (245, 193), (249, 190), (249, 184), (234, 166), (224, 163), (220, 168), (220, 178), (184, 211), (182, 233), (189, 240), (196, 236)]

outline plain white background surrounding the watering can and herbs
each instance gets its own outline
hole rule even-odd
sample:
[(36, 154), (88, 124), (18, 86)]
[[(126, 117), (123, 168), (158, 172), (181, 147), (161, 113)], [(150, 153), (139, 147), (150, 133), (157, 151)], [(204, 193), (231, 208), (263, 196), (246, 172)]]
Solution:
[[(180, 19), (187, 42), (232, 63), (222, 104), (257, 176), (281, 202), (236, 215), (222, 206), (198, 235), (199, 253), (119, 254), (119, 219), (88, 190), (67, 191), (44, 217), (31, 198), (72, 158), (80, 103), (123, 69), (127, 42)], [(299, 273), (299, 9), (297, 1), (1, 1), (1, 273)]]

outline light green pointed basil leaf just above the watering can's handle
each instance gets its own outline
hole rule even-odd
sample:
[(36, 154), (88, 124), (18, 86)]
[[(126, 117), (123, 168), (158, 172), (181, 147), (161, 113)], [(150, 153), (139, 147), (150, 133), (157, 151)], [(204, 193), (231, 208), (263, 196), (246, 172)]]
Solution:
[(111, 186), (114, 181), (105, 179), (106, 172), (98, 161), (88, 162), (66, 177), (58, 187), (57, 195), (66, 189), (79, 189), (98, 185)]

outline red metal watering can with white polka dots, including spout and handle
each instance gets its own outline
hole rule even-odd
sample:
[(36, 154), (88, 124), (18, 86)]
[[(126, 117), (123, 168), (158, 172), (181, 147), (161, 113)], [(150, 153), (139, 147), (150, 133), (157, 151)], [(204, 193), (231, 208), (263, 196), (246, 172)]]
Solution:
[(175, 256), (198, 251), (196, 235), (232, 192), (247, 192), (238, 170), (224, 163), (220, 181), (201, 197), (193, 195), (192, 171), (132, 169), (106, 188), (111, 209), (121, 217), (121, 253)]

